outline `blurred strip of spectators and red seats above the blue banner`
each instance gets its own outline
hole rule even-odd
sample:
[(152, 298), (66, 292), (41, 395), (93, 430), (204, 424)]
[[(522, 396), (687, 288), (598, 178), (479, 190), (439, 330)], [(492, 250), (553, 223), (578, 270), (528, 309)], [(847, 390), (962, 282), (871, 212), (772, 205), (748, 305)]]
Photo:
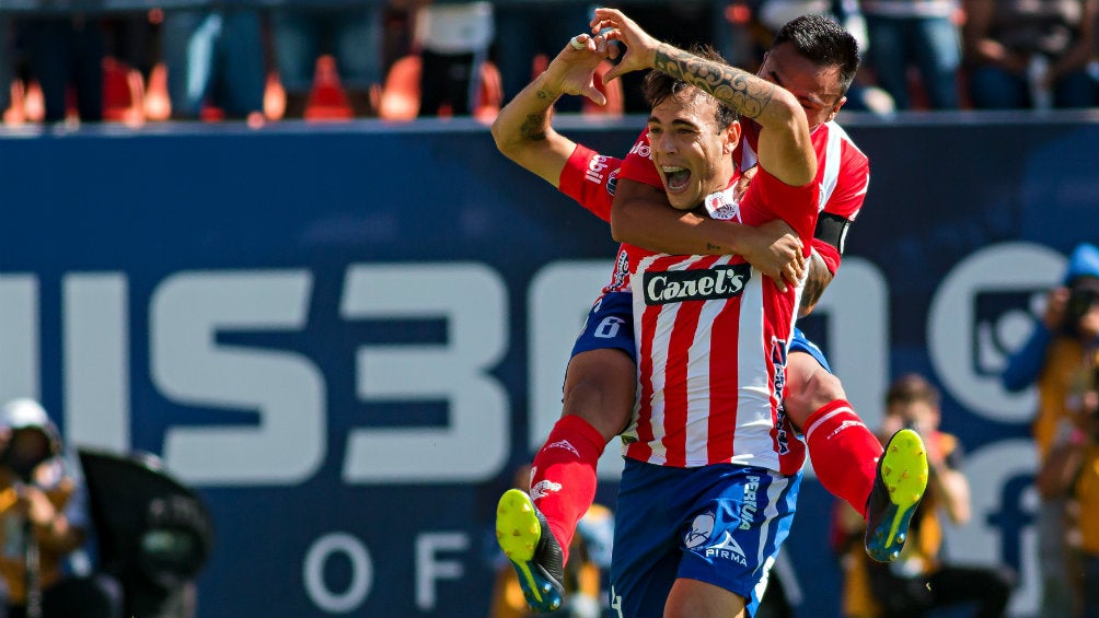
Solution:
[[(610, 2), (654, 35), (754, 69), (773, 33), (828, 13), (864, 48), (848, 110), (1099, 104), (1099, 0)], [(8, 125), (491, 119), (595, 4), (569, 0), (21, 0), (0, 5)], [(629, 77), (603, 108), (643, 112)], [(563, 103), (564, 104), (564, 103)]]

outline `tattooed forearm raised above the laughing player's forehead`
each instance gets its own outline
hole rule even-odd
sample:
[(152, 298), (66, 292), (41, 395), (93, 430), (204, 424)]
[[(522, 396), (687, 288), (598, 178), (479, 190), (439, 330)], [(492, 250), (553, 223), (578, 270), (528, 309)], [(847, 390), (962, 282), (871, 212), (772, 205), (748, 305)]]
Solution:
[(656, 48), (655, 68), (729, 103), (741, 115), (757, 119), (775, 86), (736, 67), (699, 58), (670, 45)]

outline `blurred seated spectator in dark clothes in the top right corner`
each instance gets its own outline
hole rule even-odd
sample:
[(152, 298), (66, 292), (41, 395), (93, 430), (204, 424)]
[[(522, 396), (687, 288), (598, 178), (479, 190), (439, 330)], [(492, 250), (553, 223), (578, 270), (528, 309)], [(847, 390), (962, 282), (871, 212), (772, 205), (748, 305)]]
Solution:
[(1099, 0), (965, 0), (975, 108), (1088, 108)]

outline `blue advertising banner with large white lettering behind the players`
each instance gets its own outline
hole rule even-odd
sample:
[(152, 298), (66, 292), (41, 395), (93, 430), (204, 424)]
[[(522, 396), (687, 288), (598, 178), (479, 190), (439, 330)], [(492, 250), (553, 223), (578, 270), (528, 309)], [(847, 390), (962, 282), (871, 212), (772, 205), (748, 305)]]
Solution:
[[(1099, 119), (846, 120), (870, 191), (803, 325), (872, 426), (897, 374), (942, 387), (974, 494), (951, 555), (1017, 568), (1011, 611), (1033, 614), (1034, 398), (998, 372), (1099, 241)], [(643, 121), (558, 124), (622, 155)], [(0, 400), (40, 397), (74, 445), (157, 453), (207, 498), (200, 617), (487, 615), (496, 499), (559, 413), (611, 268), (602, 222), (471, 121), (2, 146)], [(807, 615), (839, 615), (831, 507), (810, 477), (787, 550)]]

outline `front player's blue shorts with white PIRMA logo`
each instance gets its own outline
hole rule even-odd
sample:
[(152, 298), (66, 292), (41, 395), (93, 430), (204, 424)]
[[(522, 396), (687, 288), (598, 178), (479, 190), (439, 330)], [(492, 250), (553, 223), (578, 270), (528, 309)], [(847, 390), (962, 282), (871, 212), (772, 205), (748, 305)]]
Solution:
[(611, 607), (621, 618), (660, 618), (671, 584), (685, 577), (741, 595), (754, 615), (790, 533), (800, 484), (800, 472), (626, 459), (615, 508)]

